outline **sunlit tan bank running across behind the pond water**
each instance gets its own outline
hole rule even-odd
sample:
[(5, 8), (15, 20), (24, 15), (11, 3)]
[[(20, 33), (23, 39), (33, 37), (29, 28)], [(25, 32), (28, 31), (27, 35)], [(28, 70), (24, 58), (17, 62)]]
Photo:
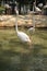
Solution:
[[(16, 20), (17, 17), (17, 20)], [(47, 16), (43, 15), (0, 15), (0, 26), (14, 26), (17, 25), (33, 26), (47, 26)]]

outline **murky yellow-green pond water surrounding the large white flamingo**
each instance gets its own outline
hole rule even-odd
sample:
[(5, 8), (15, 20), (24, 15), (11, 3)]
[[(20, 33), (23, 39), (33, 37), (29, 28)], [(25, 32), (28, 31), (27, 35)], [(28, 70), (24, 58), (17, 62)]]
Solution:
[(0, 71), (47, 71), (47, 31), (24, 32), (32, 39), (31, 49), (20, 42), (14, 28), (0, 29)]

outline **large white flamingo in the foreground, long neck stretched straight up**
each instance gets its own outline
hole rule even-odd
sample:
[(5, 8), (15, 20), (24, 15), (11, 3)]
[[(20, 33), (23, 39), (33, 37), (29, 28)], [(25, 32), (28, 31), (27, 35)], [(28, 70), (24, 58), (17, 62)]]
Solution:
[(28, 43), (28, 44), (31, 44), (31, 39), (30, 39), (28, 35), (26, 33), (21, 32), (21, 31), (17, 29), (17, 15), (19, 15), (19, 10), (15, 9), (15, 12), (16, 12), (15, 31), (16, 31), (17, 37), (20, 38), (20, 40), (22, 43)]

